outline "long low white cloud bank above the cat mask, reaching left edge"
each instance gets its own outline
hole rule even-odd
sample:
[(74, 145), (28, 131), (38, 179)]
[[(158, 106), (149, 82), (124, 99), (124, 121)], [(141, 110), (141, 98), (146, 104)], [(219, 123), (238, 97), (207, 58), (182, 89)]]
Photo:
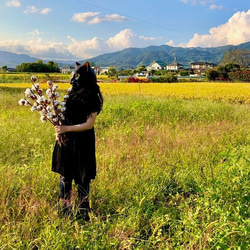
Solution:
[(68, 36), (70, 43), (68, 45), (55, 41), (45, 41), (39, 36), (41, 31), (35, 29), (28, 33), (31, 38), (27, 41), (10, 40), (0, 41), (0, 50), (14, 53), (25, 53), (41, 59), (88, 59), (111, 53), (128, 47), (146, 47), (152, 44), (161, 43), (162, 37), (138, 36), (130, 29), (125, 29), (104, 40), (100, 37), (94, 37), (89, 40), (77, 40)]

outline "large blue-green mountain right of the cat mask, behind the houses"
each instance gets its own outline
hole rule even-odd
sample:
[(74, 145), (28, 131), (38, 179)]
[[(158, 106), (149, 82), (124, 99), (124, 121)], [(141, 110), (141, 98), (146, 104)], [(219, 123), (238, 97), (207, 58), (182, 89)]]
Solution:
[(147, 48), (128, 48), (114, 53), (103, 54), (88, 61), (96, 65), (114, 65), (120, 69), (136, 68), (138, 65), (148, 66), (153, 61), (171, 63), (174, 60), (174, 53), (177, 55), (178, 63), (190, 67), (191, 62), (203, 61), (219, 64), (224, 54), (232, 49), (250, 50), (250, 42), (235, 46), (221, 46), (213, 48), (181, 48), (168, 45), (149, 46)]

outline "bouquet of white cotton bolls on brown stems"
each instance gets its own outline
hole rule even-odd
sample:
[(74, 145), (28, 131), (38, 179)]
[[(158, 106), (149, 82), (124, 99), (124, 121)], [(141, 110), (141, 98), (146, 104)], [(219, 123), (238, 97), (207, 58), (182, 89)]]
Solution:
[[(43, 95), (43, 89), (40, 88), (40, 83), (37, 82), (36, 76), (31, 76), (32, 87), (25, 90), (25, 98), (19, 100), (19, 105), (30, 106), (31, 111), (38, 111), (41, 115), (41, 121), (49, 121), (54, 126), (62, 125), (65, 119), (66, 102), (69, 98), (71, 88), (64, 96), (63, 101), (60, 102), (59, 93), (57, 92), (58, 85), (53, 84), (52, 81), (47, 81), (48, 89), (46, 91), (47, 98)], [(58, 137), (59, 144), (66, 145), (66, 135), (61, 134)]]

